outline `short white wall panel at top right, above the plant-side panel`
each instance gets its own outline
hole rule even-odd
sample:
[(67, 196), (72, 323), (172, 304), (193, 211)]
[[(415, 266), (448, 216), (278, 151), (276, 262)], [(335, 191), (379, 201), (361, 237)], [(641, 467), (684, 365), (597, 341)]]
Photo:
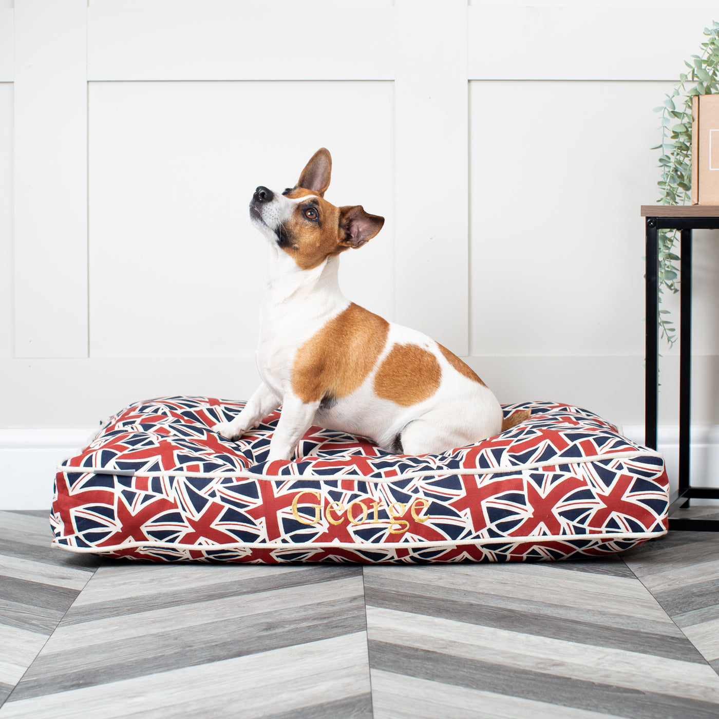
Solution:
[(662, 5), (471, 6), (468, 76), (676, 81), (716, 13), (708, 6)]

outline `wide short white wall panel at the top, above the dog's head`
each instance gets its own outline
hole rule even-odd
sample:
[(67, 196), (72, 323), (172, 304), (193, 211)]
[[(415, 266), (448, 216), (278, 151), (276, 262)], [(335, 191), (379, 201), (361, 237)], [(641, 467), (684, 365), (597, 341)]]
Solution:
[(88, 80), (391, 80), (393, 21), (381, 7), (91, 7)]

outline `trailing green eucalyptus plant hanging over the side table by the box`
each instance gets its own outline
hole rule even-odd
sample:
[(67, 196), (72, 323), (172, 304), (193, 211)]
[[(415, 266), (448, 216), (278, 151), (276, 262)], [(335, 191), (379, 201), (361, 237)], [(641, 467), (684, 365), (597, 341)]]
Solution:
[[(705, 27), (707, 42), (702, 42), (701, 55), (692, 55), (692, 62), (684, 60), (689, 71), (679, 75), (679, 82), (667, 93), (664, 104), (654, 108), (661, 112), (661, 145), (652, 150), (661, 150), (659, 168), (661, 180), (659, 202), (662, 205), (685, 205), (691, 202), (692, 191), (692, 97), (719, 92), (719, 22)], [(679, 257), (674, 245), (679, 237), (678, 230), (659, 230), (659, 300), (664, 288), (676, 293), (679, 269), (674, 262)], [(674, 323), (668, 318), (669, 310), (659, 311), (661, 336), (672, 347), (676, 336)]]

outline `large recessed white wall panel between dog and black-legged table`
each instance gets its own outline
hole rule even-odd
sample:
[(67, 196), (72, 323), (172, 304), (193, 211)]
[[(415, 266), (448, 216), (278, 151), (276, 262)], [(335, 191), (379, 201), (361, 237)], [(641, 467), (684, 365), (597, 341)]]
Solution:
[(472, 354), (644, 354), (637, 208), (670, 87), (470, 83)]

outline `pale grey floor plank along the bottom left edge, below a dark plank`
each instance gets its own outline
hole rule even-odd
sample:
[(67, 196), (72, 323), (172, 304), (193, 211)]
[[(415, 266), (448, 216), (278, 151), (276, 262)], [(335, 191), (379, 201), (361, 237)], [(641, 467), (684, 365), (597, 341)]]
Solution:
[[(255, 719), (347, 700), (369, 719), (364, 631), (260, 654), (8, 701), (0, 719)], [(299, 714), (302, 716), (302, 714)], [(351, 715), (350, 715), (351, 716)]]

